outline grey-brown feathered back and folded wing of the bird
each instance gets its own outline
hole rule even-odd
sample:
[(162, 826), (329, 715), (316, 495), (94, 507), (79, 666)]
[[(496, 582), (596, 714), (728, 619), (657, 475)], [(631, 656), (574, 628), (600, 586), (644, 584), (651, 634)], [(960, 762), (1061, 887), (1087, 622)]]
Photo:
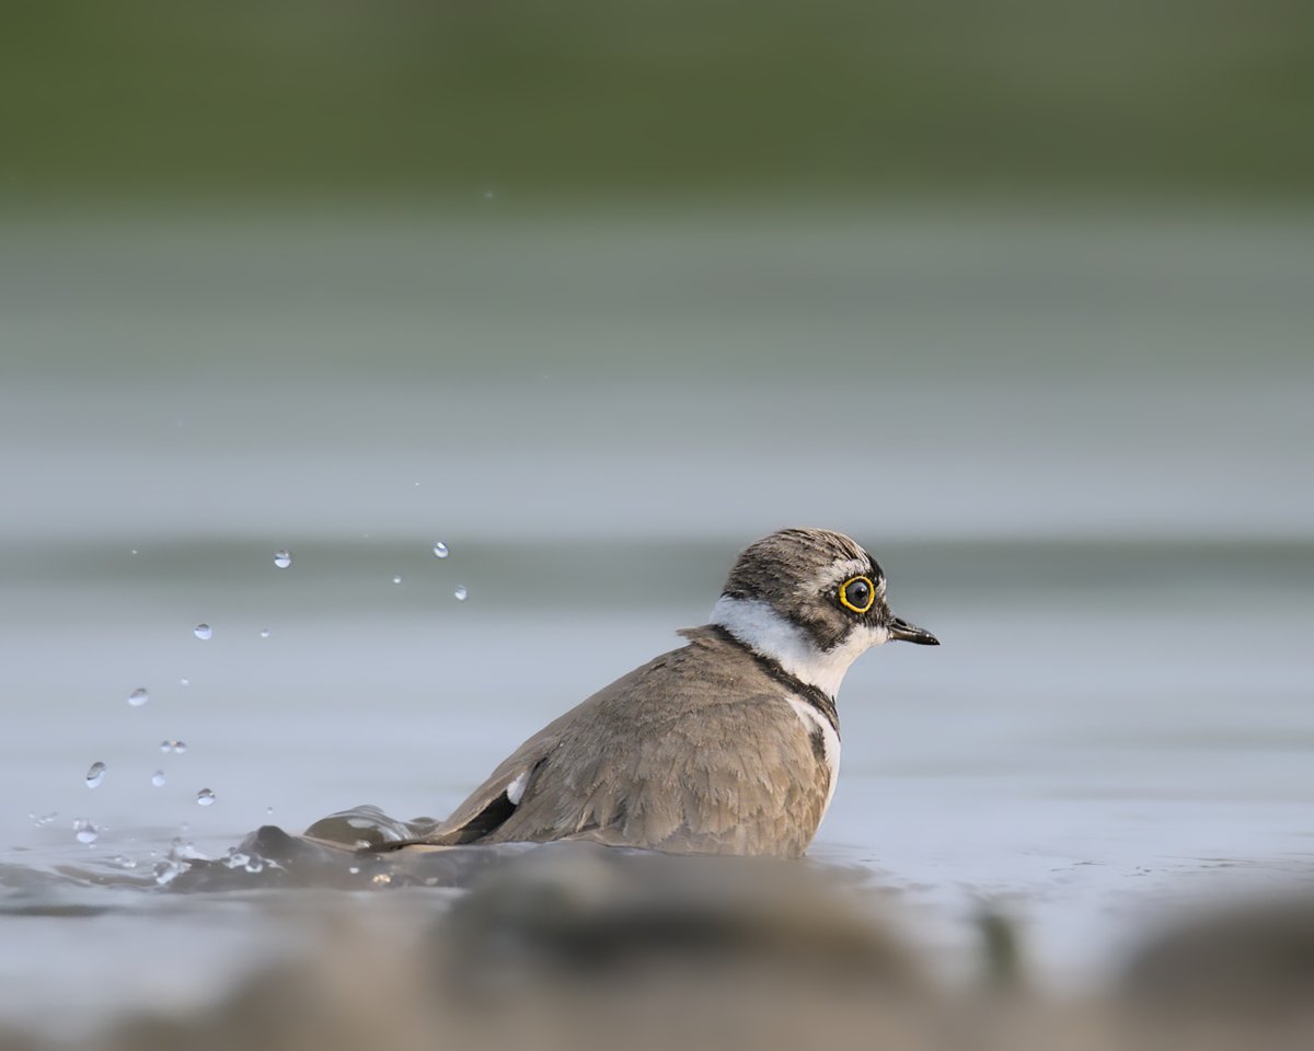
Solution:
[(690, 637), (526, 741), (422, 842), (802, 854), (828, 771), (784, 692), (744, 650)]

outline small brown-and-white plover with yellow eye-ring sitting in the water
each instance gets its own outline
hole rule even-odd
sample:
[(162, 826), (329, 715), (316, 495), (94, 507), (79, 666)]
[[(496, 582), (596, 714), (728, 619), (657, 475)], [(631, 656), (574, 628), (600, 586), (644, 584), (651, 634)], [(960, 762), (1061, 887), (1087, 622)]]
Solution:
[(677, 854), (804, 854), (834, 796), (836, 695), (887, 641), (886, 575), (844, 533), (745, 548), (711, 620), (511, 753), (452, 815), (385, 849), (586, 839)]

